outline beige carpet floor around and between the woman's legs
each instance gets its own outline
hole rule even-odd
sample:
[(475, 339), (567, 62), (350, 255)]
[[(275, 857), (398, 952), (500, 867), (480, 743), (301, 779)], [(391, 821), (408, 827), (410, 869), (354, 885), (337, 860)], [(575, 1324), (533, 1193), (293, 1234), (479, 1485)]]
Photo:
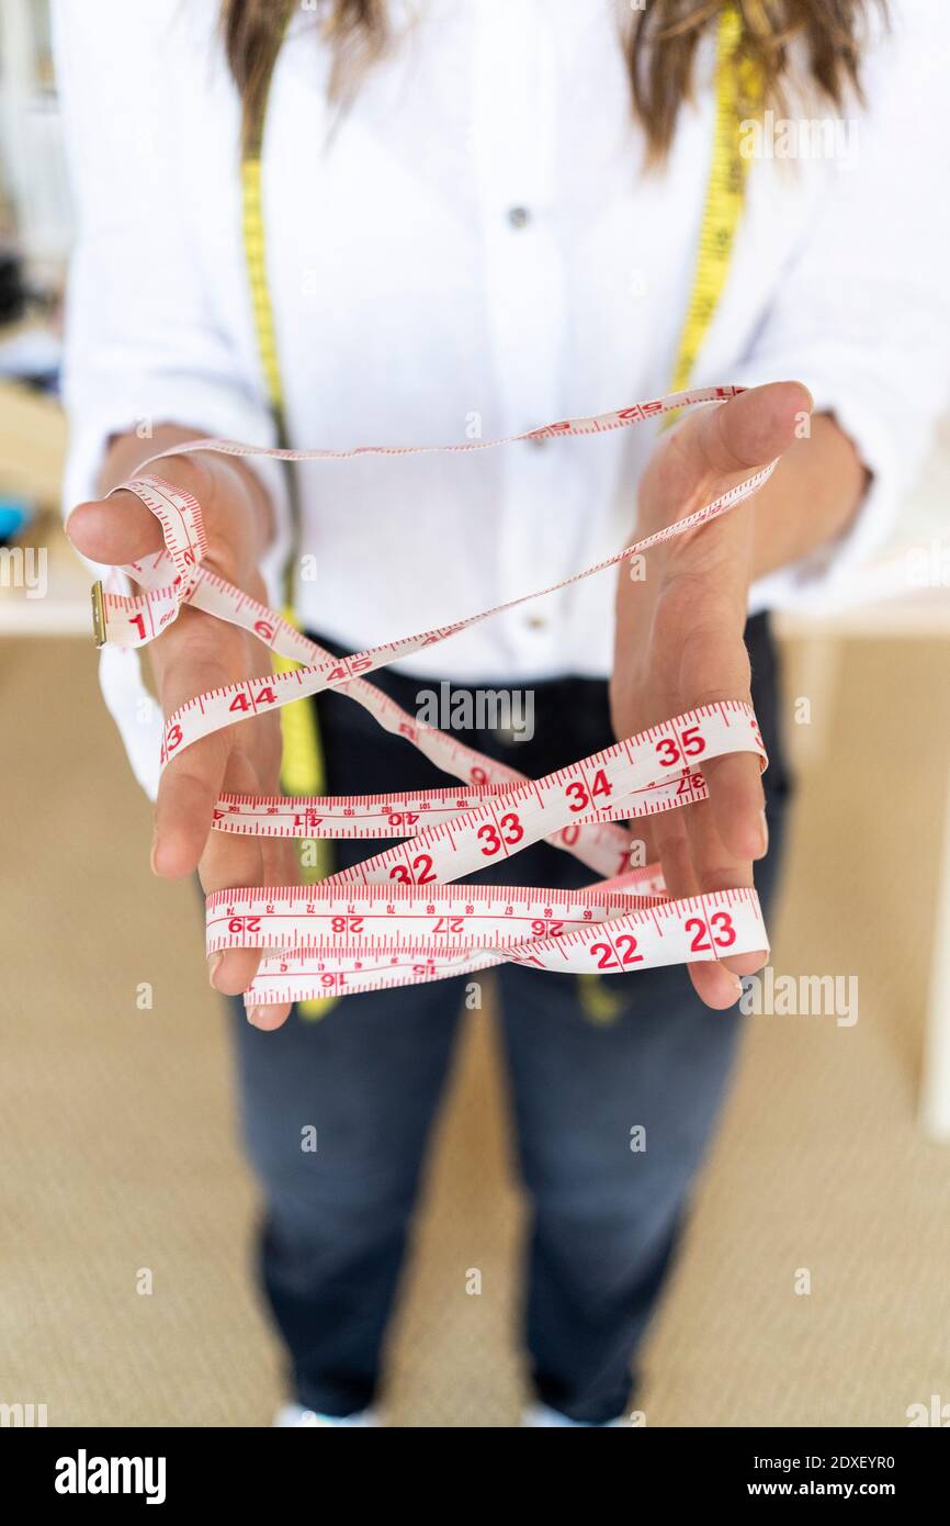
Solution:
[[(750, 1019), (650, 1344), (648, 1425), (903, 1425), (950, 1401), (950, 1148), (915, 1123), (945, 697), (936, 642), (845, 652), (773, 964), (857, 974), (860, 1019)], [(267, 1424), (279, 1360), (194, 894), (148, 874), (91, 645), (0, 645), (0, 1402), (47, 1404), (50, 1425)], [(473, 1013), (392, 1334), (400, 1425), (511, 1425), (523, 1401), (499, 1094)]]

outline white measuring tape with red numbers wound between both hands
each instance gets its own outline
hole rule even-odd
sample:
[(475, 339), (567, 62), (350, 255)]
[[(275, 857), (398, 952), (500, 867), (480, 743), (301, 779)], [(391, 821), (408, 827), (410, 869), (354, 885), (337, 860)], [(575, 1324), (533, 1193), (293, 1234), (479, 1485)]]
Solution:
[[(485, 450), (520, 439), (622, 429), (695, 403), (723, 401), (741, 391), (724, 386), (677, 392), (508, 439), (354, 450), (267, 450), (229, 439), (192, 439), (146, 464), (195, 450), (287, 461)], [(98, 644), (146, 645), (177, 618), (183, 604), (192, 604), (241, 626), (279, 656), (302, 664), (188, 700), (165, 722), (163, 768), (192, 742), (223, 726), (334, 688), (459, 780), (456, 789), (409, 795), (221, 797), (213, 815), (218, 832), (401, 839), (317, 885), (235, 888), (207, 897), (209, 955), (229, 948), (267, 951), (246, 992), (247, 1006), (442, 980), (505, 960), (561, 972), (624, 974), (769, 948), (753, 890), (669, 900), (659, 868), (630, 868), (633, 835), (628, 827), (616, 826), (706, 800), (701, 768), (712, 758), (755, 752), (764, 768), (765, 751), (750, 705), (740, 700), (704, 705), (544, 778), (529, 780), (409, 716), (369, 684), (366, 674), (717, 519), (758, 491), (773, 470), (775, 462), (686, 519), (561, 583), (439, 630), (345, 658), (331, 656), (274, 610), (201, 566), (206, 540), (201, 510), (191, 493), (146, 473), (122, 484), (159, 519), (165, 549), (120, 569), (139, 583), (142, 594), (125, 597), (95, 586)], [(599, 881), (578, 891), (454, 884), (541, 839), (573, 853)]]

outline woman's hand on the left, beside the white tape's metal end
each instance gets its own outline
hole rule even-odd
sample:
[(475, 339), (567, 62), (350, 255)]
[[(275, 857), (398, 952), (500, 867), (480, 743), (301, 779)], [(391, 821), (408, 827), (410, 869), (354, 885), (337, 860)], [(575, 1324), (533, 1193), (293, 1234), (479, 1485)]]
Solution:
[[(194, 435), (175, 430), (175, 438)], [(137, 446), (140, 455), (140, 441)], [(128, 452), (119, 450), (117, 456), (119, 461), (113, 456), (107, 462), (107, 484), (110, 478), (127, 481), (134, 475)], [(116, 465), (117, 473), (110, 468)], [(241, 462), (220, 456), (172, 456), (156, 462), (154, 470), (198, 499), (207, 537), (201, 565), (265, 603), (259, 562), (270, 534), (270, 505), (259, 479)], [(159, 520), (134, 493), (125, 491), (79, 504), (69, 516), (67, 534), (82, 555), (111, 566), (125, 566), (163, 545)], [(166, 717), (209, 688), (271, 671), (270, 652), (255, 636), (189, 606), (149, 644), (148, 656)], [(221, 794), (274, 795), (281, 789), (279, 775), (278, 713), (226, 726), (172, 757), (156, 800), (154, 873), (177, 879), (197, 870), (206, 894), (232, 885), (291, 884), (297, 877), (293, 844), (210, 830)], [(212, 955), (209, 980), (215, 990), (226, 995), (246, 990), (259, 957), (256, 949)], [(249, 1010), (249, 1019), (256, 1027), (274, 1029), (288, 1012), (287, 1004), (256, 1007)]]

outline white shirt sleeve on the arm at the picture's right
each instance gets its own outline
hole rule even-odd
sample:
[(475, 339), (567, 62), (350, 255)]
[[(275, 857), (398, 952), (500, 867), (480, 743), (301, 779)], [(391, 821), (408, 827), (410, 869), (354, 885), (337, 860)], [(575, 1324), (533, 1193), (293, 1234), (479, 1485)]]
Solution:
[(950, 6), (889, 9), (863, 66), (866, 110), (843, 113), (807, 237), (738, 366), (747, 386), (804, 382), (871, 484), (848, 531), (756, 583), (753, 609), (834, 603), (845, 574), (894, 531), (950, 391)]

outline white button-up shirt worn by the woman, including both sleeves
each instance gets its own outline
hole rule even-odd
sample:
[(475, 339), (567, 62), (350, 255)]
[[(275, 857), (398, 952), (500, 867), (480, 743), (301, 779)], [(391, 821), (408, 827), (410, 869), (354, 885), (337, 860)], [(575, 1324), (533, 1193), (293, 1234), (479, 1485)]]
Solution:
[[(392, 0), (340, 114), (313, 14), (274, 73), (264, 217), (291, 443), (515, 433), (669, 389), (712, 151), (714, 38), (642, 171), (613, 0)], [(752, 591), (828, 597), (892, 520), (950, 377), (950, 6), (891, 6), (843, 159), (750, 163), (692, 382), (799, 378), (874, 475), (843, 540)], [(75, 185), (64, 501), (142, 421), (271, 444), (241, 240), (239, 107), (217, 0), (58, 0)], [(814, 104), (799, 107), (826, 114)], [(515, 211), (517, 209), (517, 211)], [(512, 215), (514, 212), (514, 215)], [(656, 427), (296, 467), (305, 627), (360, 649), (543, 588), (631, 539)], [(282, 468), (258, 467), (287, 514)], [(672, 505), (671, 505), (672, 511)], [(601, 575), (413, 656), (425, 676), (607, 674)], [(113, 653), (113, 656), (116, 656)], [(107, 684), (108, 688), (108, 684)]]

